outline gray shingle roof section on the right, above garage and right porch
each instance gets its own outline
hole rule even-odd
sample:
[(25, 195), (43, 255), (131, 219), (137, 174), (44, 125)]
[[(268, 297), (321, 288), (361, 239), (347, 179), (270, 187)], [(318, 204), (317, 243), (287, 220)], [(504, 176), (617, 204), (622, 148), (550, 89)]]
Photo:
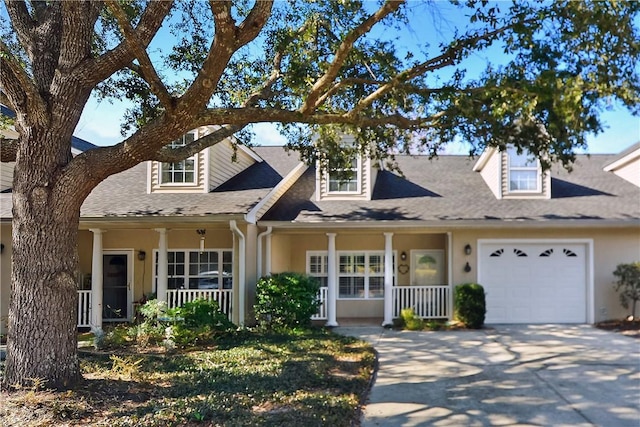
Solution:
[(602, 170), (612, 155), (580, 155), (572, 173), (552, 172), (552, 198), (498, 200), (466, 156), (398, 156), (406, 176), (380, 172), (371, 201), (315, 201), (310, 168), (263, 221), (485, 221), (640, 219), (640, 188)]

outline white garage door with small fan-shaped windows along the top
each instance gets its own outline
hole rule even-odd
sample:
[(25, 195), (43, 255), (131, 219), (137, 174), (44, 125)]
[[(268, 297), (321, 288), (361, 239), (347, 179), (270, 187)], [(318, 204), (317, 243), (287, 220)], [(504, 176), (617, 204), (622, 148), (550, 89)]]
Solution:
[(585, 323), (585, 244), (481, 242), (486, 323)]

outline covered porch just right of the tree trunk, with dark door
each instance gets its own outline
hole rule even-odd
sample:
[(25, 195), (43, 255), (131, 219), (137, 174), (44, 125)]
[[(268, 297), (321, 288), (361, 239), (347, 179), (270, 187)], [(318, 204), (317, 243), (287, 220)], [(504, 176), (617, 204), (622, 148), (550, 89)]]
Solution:
[(151, 298), (168, 308), (213, 300), (243, 324), (246, 282), (255, 279), (255, 268), (247, 268), (248, 246), (255, 251), (247, 240), (255, 227), (235, 220), (159, 225), (100, 224), (80, 231), (78, 326), (133, 321)]

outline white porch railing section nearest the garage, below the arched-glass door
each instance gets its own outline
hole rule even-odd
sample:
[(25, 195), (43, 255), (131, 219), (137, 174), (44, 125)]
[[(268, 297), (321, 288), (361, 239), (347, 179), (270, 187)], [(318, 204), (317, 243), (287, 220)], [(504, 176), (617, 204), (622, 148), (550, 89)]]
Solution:
[(403, 308), (413, 308), (423, 319), (450, 318), (448, 286), (394, 286), (393, 317)]

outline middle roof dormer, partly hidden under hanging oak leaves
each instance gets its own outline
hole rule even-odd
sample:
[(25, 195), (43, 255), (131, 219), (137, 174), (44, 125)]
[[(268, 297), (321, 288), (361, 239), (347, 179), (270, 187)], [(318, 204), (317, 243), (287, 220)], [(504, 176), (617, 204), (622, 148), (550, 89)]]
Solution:
[[(345, 138), (345, 144), (352, 144), (353, 138)], [(332, 166), (325, 170), (316, 167), (316, 200), (371, 200), (375, 185), (376, 169), (371, 159), (361, 153), (345, 167)]]

